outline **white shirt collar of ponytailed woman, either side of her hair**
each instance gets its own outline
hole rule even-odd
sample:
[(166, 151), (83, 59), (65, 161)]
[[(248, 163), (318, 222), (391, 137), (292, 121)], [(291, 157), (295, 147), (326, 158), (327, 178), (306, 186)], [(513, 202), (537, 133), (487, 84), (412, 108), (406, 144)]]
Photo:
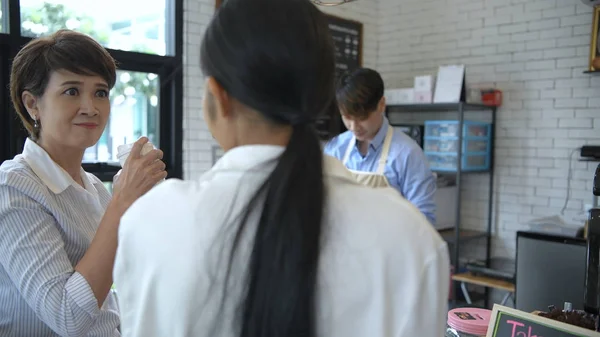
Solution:
[[(251, 170), (264, 168), (269, 161), (279, 157), (285, 147), (277, 145), (244, 145), (227, 151), (213, 166), (211, 171)], [(323, 156), (323, 175), (348, 180), (356, 183), (356, 179), (344, 164), (335, 157)]]

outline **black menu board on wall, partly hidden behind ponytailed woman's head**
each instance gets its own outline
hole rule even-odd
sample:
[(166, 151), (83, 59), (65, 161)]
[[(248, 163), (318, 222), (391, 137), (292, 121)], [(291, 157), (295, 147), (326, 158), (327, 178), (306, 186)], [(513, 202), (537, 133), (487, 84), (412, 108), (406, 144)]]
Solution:
[[(336, 79), (346, 71), (362, 67), (363, 24), (357, 21), (326, 15), (329, 31), (335, 45)], [(337, 136), (346, 130), (334, 104), (327, 115), (317, 122), (317, 130), (322, 139)]]

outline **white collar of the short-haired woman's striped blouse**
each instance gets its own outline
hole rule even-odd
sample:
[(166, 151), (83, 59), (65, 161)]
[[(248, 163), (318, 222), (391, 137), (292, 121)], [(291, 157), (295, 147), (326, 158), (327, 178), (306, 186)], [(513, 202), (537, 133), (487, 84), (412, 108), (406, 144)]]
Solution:
[[(67, 171), (50, 158), (50, 155), (41, 146), (29, 138), (25, 140), (22, 156), (33, 172), (54, 194), (62, 193), (69, 186), (81, 188)], [(87, 191), (96, 192), (83, 168), (81, 168), (81, 179)]]

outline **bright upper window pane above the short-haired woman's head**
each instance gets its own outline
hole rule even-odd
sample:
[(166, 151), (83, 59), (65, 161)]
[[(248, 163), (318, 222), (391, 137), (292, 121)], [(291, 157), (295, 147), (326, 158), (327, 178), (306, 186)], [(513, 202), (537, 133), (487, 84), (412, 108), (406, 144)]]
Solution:
[[(7, 1), (7, 0), (0, 0)], [(38, 37), (68, 28), (111, 49), (172, 55), (165, 20), (169, 0), (21, 0), (21, 34)], [(118, 10), (115, 10), (118, 8)]]

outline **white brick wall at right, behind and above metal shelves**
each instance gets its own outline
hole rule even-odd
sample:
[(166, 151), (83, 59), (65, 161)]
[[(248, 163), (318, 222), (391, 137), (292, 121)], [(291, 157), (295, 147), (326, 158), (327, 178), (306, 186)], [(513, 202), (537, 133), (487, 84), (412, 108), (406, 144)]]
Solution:
[[(503, 90), (493, 252), (514, 256), (517, 230), (527, 229), (532, 218), (560, 213), (573, 149), (600, 145), (600, 77), (582, 73), (592, 8), (571, 0), (448, 0), (443, 6), (380, 0), (379, 14), (377, 66), (388, 87), (412, 86), (413, 76), (462, 63), (468, 84)], [(576, 158), (566, 220), (581, 217), (592, 201), (597, 163)], [(484, 229), (487, 190), (481, 186), (488, 178), (465, 177), (463, 226)]]

